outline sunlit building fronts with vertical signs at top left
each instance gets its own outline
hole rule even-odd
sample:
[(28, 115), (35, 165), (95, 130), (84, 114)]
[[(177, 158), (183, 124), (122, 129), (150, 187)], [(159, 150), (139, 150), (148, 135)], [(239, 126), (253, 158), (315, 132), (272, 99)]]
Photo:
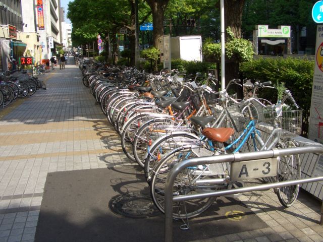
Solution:
[(60, 0), (0, 0), (0, 68), (27, 55), (47, 63), (62, 46), (63, 20)]

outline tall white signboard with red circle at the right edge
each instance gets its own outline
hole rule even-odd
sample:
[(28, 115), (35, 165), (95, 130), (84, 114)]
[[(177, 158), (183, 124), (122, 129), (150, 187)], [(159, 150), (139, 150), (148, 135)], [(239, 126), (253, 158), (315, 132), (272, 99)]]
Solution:
[(323, 144), (323, 25), (317, 25), (308, 138)]

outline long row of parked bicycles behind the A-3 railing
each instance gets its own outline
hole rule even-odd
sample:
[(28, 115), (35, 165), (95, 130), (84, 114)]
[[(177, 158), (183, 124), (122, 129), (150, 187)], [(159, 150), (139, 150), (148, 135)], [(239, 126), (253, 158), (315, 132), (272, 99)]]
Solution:
[[(257, 152), (272, 148), (296, 147), (302, 110), (289, 90), (282, 100), (272, 103), (257, 97), (270, 82), (246, 86), (244, 100), (230, 95), (227, 88), (214, 90), (216, 79), (209, 74), (203, 85), (197, 77), (175, 70), (147, 74), (134, 68), (80, 64), (83, 84), (100, 104), (108, 122), (121, 137), (124, 153), (143, 169), (156, 207), (165, 211), (165, 183), (179, 162), (194, 157), (236, 152)], [(293, 110), (286, 107), (294, 106)], [(282, 128), (283, 127), (283, 128)], [(217, 163), (186, 167), (176, 177), (173, 196), (240, 188), (249, 179), (266, 183), (300, 178), (300, 159), (290, 155), (245, 163), (238, 174), (232, 164)], [(298, 195), (299, 185), (274, 190), (285, 207)], [(216, 200), (214, 197), (173, 202), (173, 217), (188, 219), (199, 215)]]

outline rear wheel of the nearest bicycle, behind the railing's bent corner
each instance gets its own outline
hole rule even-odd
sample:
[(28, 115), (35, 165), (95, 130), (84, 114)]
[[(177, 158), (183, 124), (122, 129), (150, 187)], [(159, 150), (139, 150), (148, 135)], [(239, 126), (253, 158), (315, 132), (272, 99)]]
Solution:
[[(165, 213), (166, 178), (174, 165), (182, 161), (181, 157), (183, 157), (183, 159), (195, 157), (193, 152), (190, 152), (188, 155), (187, 153), (189, 152), (190, 148), (182, 148), (179, 151), (171, 152), (160, 161), (159, 165), (152, 172), (150, 194), (154, 204), (162, 213)], [(201, 192), (205, 193), (206, 191), (211, 192), (216, 190), (214, 186), (205, 188), (205, 186), (199, 187), (192, 183), (196, 176), (194, 173), (195, 172), (192, 172), (191, 169), (186, 168), (176, 176), (173, 187), (173, 196), (198, 194)], [(173, 218), (186, 219), (195, 217), (208, 209), (215, 200), (216, 197), (208, 197), (182, 202), (173, 202)]]

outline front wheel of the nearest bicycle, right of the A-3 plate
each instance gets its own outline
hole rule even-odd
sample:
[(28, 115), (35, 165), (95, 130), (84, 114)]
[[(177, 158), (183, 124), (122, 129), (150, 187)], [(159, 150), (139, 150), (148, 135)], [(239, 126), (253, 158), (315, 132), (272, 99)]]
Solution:
[[(285, 141), (284, 148), (297, 147), (293, 141)], [(278, 180), (297, 180), (301, 177), (299, 155), (281, 156), (278, 165)], [(290, 207), (297, 199), (299, 185), (286, 186), (278, 189), (278, 199), (284, 207)]]

